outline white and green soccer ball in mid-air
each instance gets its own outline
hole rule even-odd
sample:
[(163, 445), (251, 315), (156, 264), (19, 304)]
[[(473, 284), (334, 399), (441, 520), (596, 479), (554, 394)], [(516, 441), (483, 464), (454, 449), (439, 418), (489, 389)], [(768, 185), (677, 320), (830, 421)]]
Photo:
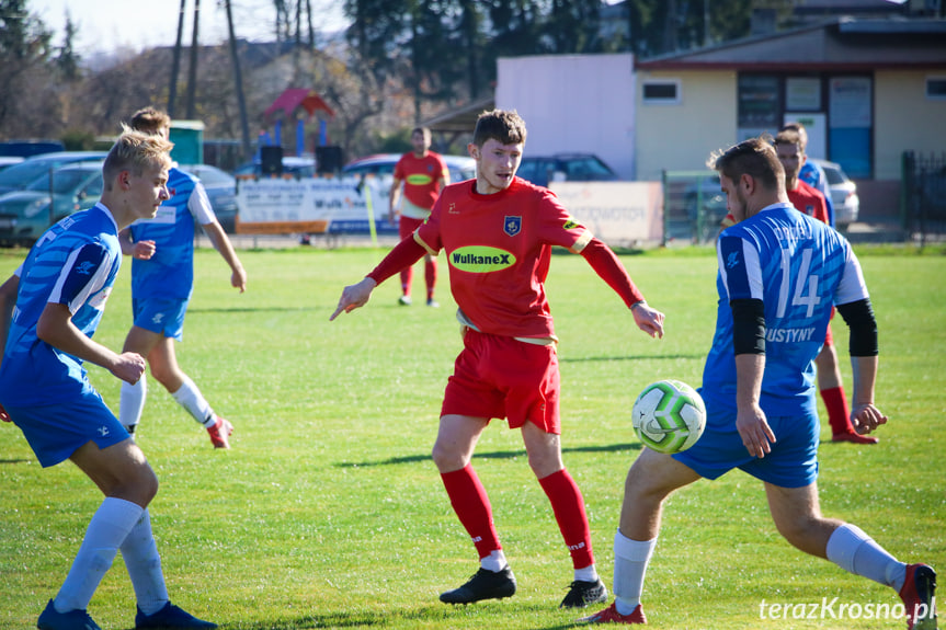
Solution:
[(632, 423), (637, 437), (660, 453), (686, 450), (706, 426), (706, 406), (695, 389), (679, 380), (659, 380), (634, 401)]

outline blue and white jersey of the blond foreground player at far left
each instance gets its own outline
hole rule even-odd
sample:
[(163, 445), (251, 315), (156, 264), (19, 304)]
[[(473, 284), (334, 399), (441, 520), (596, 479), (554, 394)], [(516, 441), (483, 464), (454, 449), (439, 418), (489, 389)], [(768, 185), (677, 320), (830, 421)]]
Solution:
[(0, 365), (0, 403), (11, 408), (72, 400), (92, 389), (82, 362), (36, 335), (47, 303), (66, 305), (89, 337), (122, 263), (118, 228), (101, 204), (49, 228), (20, 270), (20, 289)]

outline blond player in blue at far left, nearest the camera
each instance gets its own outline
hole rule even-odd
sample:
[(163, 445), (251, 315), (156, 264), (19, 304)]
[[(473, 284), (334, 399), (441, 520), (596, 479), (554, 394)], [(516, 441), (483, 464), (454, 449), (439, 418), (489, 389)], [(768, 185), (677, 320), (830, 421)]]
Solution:
[(124, 133), (105, 159), (101, 201), (49, 228), (0, 288), (3, 415), (39, 463), (71, 459), (105, 495), (39, 630), (99, 629), (87, 608), (119, 549), (138, 603), (136, 628), (216, 628), (169, 602), (148, 514), (158, 479), (82, 367), (88, 360), (125, 382), (145, 371), (139, 354), (116, 354), (92, 335), (122, 263), (118, 231), (155, 216), (169, 197), (170, 149), (163, 138)]

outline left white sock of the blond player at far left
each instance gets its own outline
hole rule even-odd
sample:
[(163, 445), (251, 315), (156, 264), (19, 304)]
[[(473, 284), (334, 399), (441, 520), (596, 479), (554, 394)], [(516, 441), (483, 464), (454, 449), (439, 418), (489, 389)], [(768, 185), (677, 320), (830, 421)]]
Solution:
[(92, 594), (112, 566), (118, 547), (143, 512), (140, 505), (130, 501), (105, 497), (92, 516), (66, 582), (53, 600), (57, 611), (84, 610), (89, 607)]

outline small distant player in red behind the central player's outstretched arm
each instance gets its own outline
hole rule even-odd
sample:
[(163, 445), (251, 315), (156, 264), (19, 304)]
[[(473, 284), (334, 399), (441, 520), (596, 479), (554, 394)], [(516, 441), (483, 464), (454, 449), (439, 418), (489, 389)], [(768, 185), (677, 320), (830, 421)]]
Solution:
[[(391, 182), (388, 205), (388, 220), (395, 222), (401, 184), (403, 184), (404, 199), (400, 210), (401, 220), (398, 224), (398, 232), (402, 240), (412, 234), (424, 222), (431, 214), (431, 208), (434, 207), (434, 202), (437, 201), (437, 195), (444, 186), (451, 183), (446, 162), (440, 153), (430, 150), (430, 129), (417, 127), (411, 131), (411, 145), (413, 151), (401, 156), (395, 165), (395, 180)], [(398, 303), (402, 306), (410, 306), (411, 303), (413, 275), (413, 266), (401, 271), (401, 297), (398, 299)], [(434, 299), (436, 282), (436, 259), (431, 254), (424, 254), (424, 283), (428, 288), (429, 307), (440, 306)]]

